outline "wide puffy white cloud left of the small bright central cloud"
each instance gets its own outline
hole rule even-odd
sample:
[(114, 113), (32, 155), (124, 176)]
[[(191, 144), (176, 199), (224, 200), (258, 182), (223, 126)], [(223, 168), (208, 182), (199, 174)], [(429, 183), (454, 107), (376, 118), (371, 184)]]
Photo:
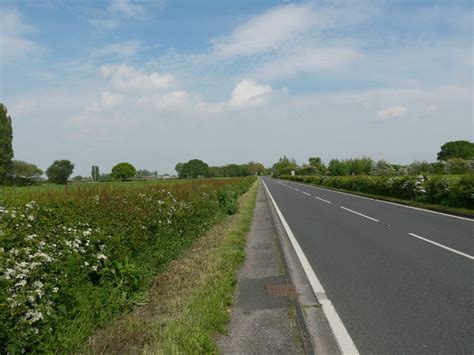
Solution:
[(118, 91), (160, 90), (174, 82), (170, 74), (147, 74), (126, 64), (103, 65), (101, 72), (104, 77), (110, 78), (112, 87)]

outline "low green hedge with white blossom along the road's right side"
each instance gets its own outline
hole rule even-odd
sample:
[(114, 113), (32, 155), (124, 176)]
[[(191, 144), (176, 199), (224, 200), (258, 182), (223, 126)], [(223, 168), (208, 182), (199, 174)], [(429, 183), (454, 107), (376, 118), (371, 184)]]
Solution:
[(281, 176), (348, 191), (474, 209), (474, 174), (429, 176)]

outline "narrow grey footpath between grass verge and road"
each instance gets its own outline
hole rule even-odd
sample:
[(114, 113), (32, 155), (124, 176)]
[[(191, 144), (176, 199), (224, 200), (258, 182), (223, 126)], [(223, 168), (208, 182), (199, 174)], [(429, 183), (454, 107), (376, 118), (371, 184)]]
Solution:
[(229, 332), (218, 339), (221, 353), (312, 353), (271, 213), (260, 184)]

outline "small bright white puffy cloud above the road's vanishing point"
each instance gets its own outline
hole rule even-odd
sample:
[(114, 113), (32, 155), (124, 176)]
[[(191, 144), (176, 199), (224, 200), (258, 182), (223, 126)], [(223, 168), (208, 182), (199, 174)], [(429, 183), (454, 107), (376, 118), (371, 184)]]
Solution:
[(229, 106), (245, 108), (265, 103), (266, 97), (272, 92), (270, 85), (260, 85), (254, 80), (242, 80), (232, 90)]

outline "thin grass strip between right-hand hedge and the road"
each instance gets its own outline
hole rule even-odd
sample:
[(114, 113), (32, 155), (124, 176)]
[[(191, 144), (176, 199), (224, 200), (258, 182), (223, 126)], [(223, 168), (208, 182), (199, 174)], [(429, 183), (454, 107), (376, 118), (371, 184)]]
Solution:
[[(289, 181), (291, 181), (291, 180), (289, 180)], [(308, 184), (308, 183), (299, 182), (299, 181), (293, 181), (293, 182), (296, 182), (296, 183), (302, 184), (302, 185), (316, 186), (316, 187), (320, 187), (322, 189), (327, 189), (327, 190), (345, 192), (345, 193), (348, 193), (348, 194), (351, 194), (351, 195), (358, 195), (358, 196), (363, 196), (363, 197), (368, 197), (368, 198), (374, 198), (374, 199), (381, 200), (381, 201), (394, 202), (394, 203), (398, 203), (400, 205), (406, 205), (406, 206), (417, 207), (417, 208), (424, 208), (424, 209), (432, 210), (432, 211), (436, 211), (436, 212), (443, 212), (443, 213), (449, 213), (449, 214), (454, 214), (454, 215), (463, 216), (463, 217), (472, 217), (472, 218), (474, 218), (474, 211), (466, 209), (466, 208), (446, 207), (446, 206), (433, 205), (433, 204), (423, 203), (423, 202), (403, 200), (403, 199), (395, 198), (395, 197), (387, 197), (387, 196), (369, 194), (369, 193), (353, 191), (353, 190), (338, 189), (338, 188), (335, 188), (335, 187), (328, 187), (328, 186), (322, 186), (322, 185), (317, 185), (317, 184)]]

